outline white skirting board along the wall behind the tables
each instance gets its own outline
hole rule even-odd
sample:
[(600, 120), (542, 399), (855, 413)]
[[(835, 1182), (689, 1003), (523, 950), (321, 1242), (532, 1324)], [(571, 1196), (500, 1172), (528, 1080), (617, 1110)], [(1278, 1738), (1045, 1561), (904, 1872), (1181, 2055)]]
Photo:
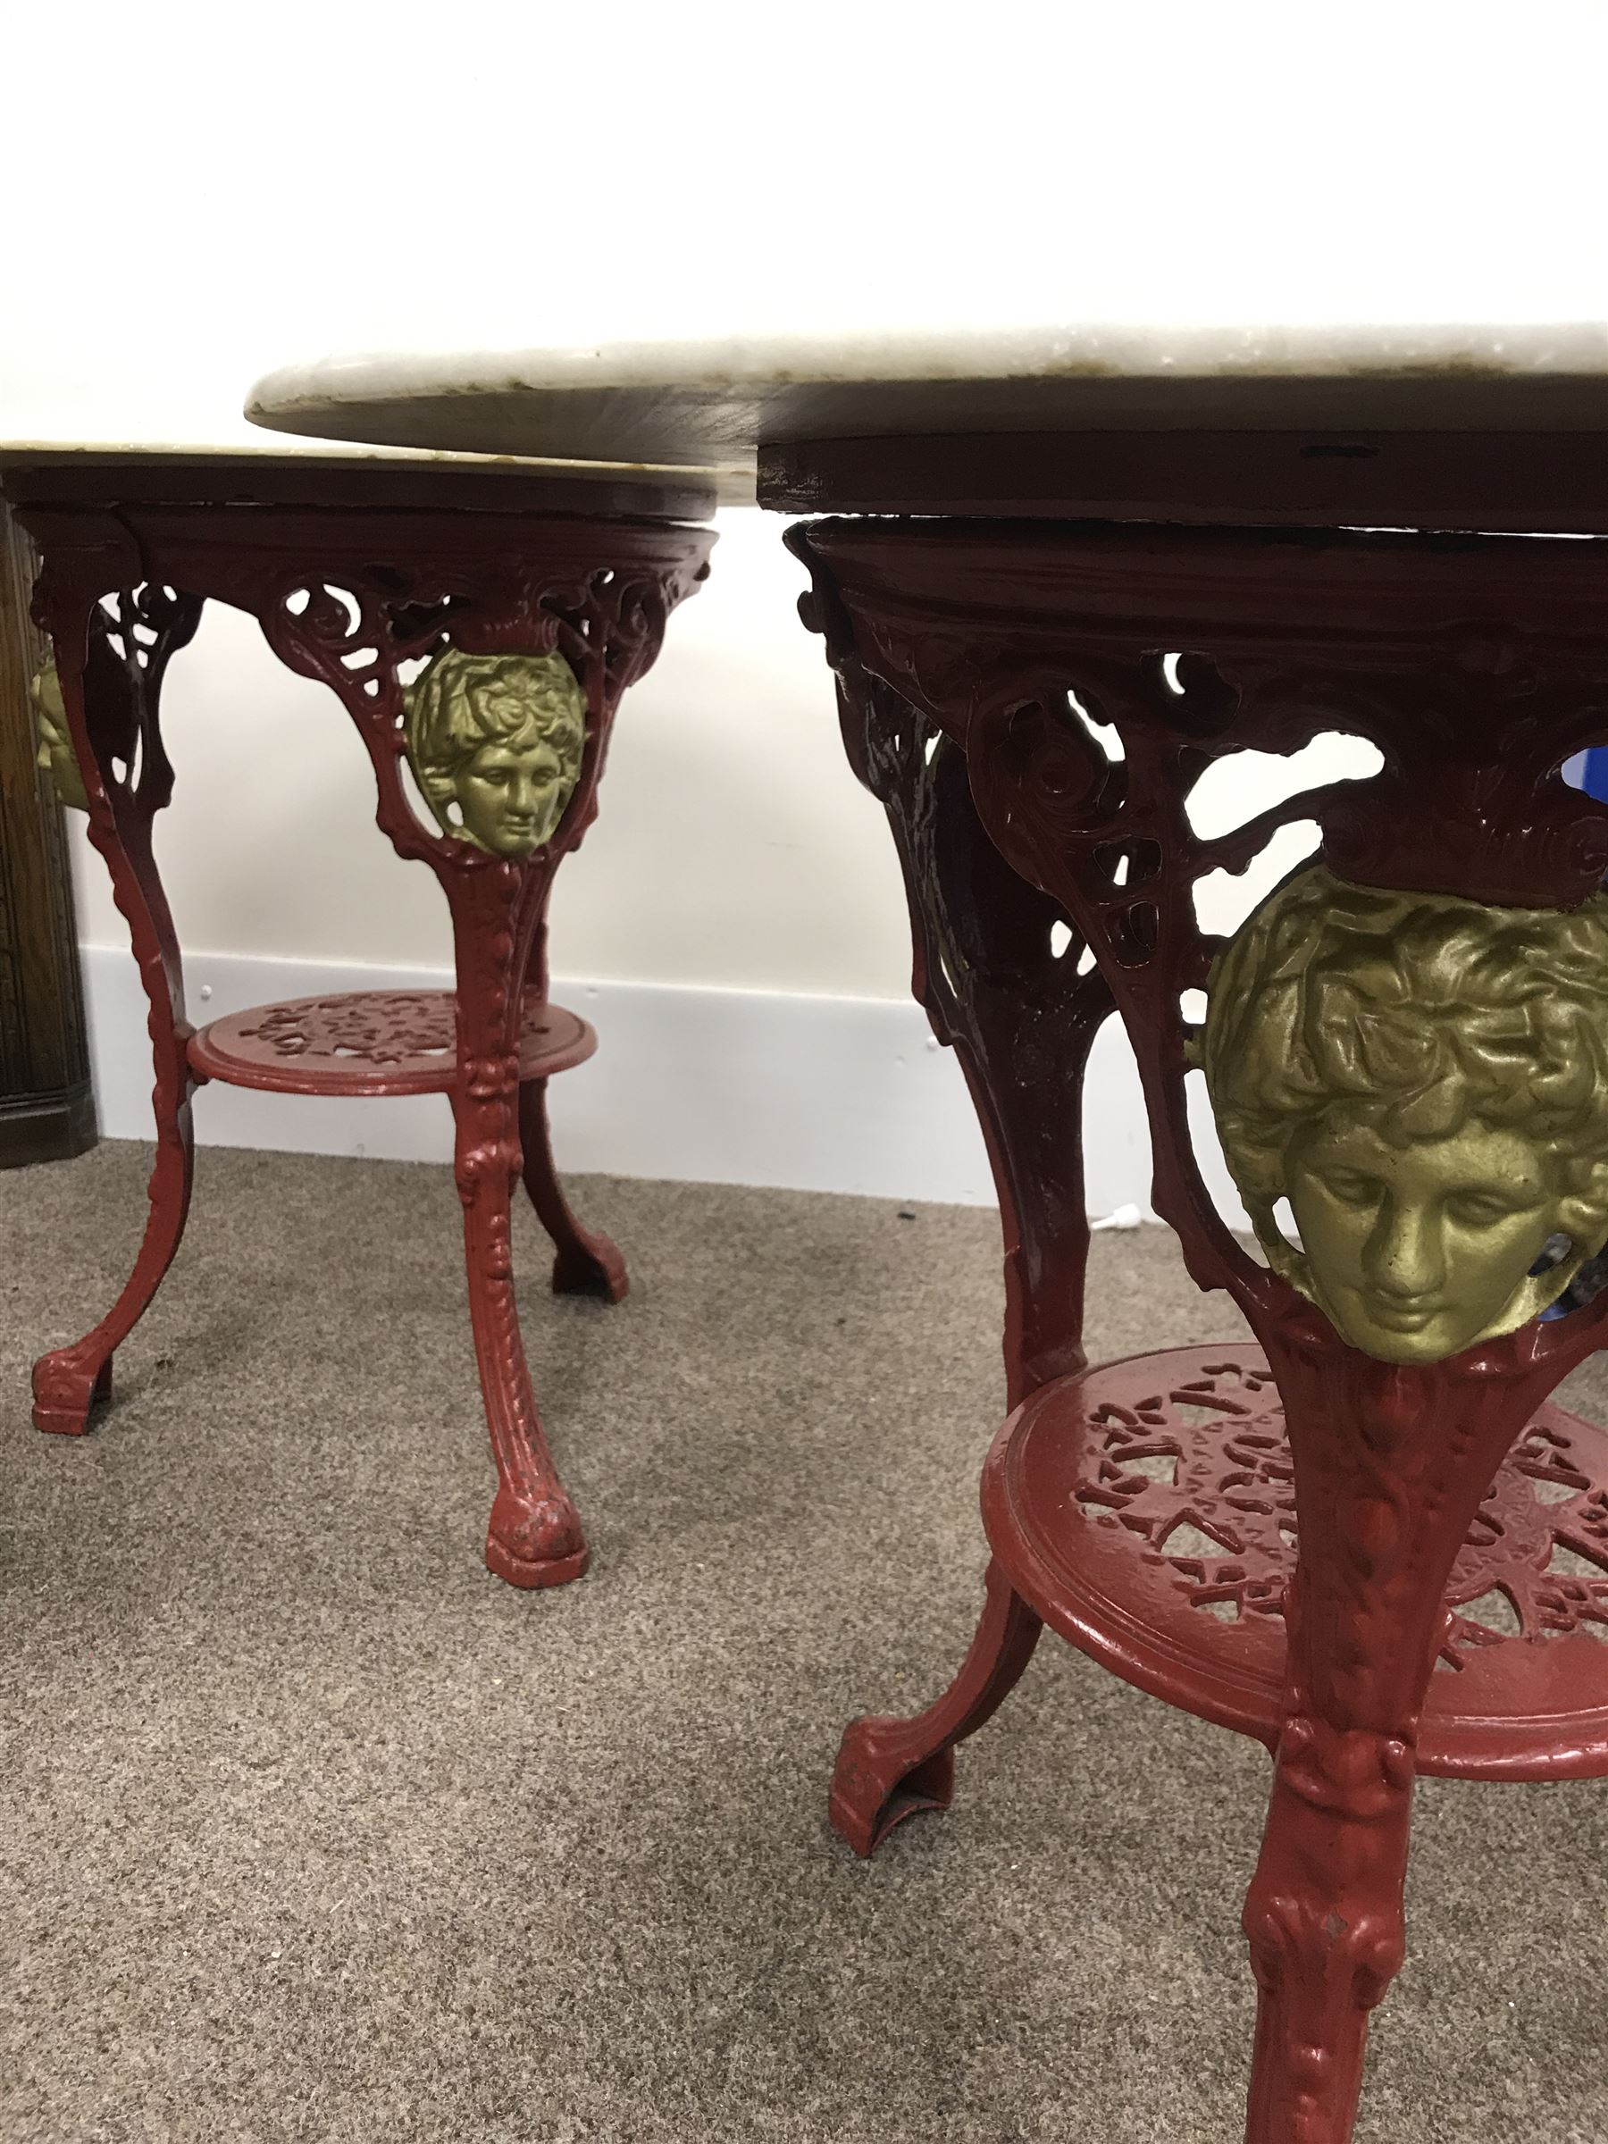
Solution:
[[(197, 1025), (283, 997), (450, 980), (435, 969), (242, 954), (184, 961)], [(84, 986), (101, 1130), (150, 1138), (146, 999), (129, 952), (84, 948)], [(598, 1029), (596, 1057), (549, 1087), (562, 1168), (993, 1205), (965, 1081), (915, 1003), (564, 978), (553, 997)], [(1085, 1126), (1089, 1211), (1149, 1211), (1149, 1136), (1115, 1023), (1093, 1051)], [(354, 1102), (208, 1085), (195, 1098), (195, 1130), (219, 1147), (407, 1162), (452, 1153), (440, 1096)], [(1207, 1173), (1214, 1194), (1231, 1201), (1216, 1145)], [(1239, 1224), (1237, 1205), (1226, 1211)]]

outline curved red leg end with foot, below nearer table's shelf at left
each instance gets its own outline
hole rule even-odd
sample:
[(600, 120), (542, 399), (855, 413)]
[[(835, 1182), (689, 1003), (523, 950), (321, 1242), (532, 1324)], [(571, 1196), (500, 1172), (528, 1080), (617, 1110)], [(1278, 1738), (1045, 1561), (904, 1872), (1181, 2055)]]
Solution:
[(853, 1719), (832, 1773), (832, 1827), (858, 1855), (881, 1846), (918, 1810), (948, 1810), (954, 1745), (976, 1734), (1023, 1677), (1044, 1627), (999, 1563), (988, 1565), (982, 1621), (961, 1672), (913, 1719)]

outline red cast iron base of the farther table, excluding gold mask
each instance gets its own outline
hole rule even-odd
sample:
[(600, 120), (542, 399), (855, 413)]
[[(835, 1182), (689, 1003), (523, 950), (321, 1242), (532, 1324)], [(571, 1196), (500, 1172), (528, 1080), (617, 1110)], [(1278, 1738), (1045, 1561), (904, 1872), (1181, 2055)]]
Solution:
[[(107, 485), (116, 482), (107, 467)], [(148, 472), (146, 472), (148, 476)], [(296, 1093), (442, 1091), (457, 1121), (470, 1319), (497, 1494), (487, 1565), (510, 1584), (549, 1587), (587, 1563), (581, 1524), (542, 1432), (515, 1306), (510, 1194), (517, 1181), (555, 1244), (553, 1286), (626, 1291), (620, 1252), (579, 1226), (547, 1138), (545, 1085), (592, 1048), (583, 1021), (547, 1003), (545, 915), (553, 873), (596, 815), (620, 695), (658, 654), (665, 617), (708, 572), (714, 536), (658, 521), (500, 510), (452, 472), (450, 510), (420, 504), (418, 474), (332, 472), (322, 497), (309, 463), (296, 502), (253, 502), (251, 472), (212, 461), (174, 470), (172, 491), (84, 497), (49, 470), (9, 472), (19, 519), (43, 553), (34, 615), (51, 635), (62, 699), (105, 855), (150, 1001), (157, 1166), (135, 1269), (107, 1316), (34, 1368), (34, 1421), (81, 1432), (111, 1391), (111, 1357), (178, 1248), (193, 1175), (191, 1093), (202, 1078)], [(34, 491), (30, 491), (30, 485)], [(356, 493), (354, 493), (356, 485)], [(607, 493), (598, 493), (600, 508)], [(572, 506), (568, 493), (564, 504)], [(403, 858), (435, 873), (452, 915), (457, 993), (302, 1001), (214, 1023), (184, 1010), (178, 939), (152, 855), (172, 798), (161, 678), (206, 600), (257, 617), (292, 669), (324, 682), (362, 735), (377, 823)], [(401, 665), (455, 643), (470, 652), (557, 650), (587, 695), (581, 776), (547, 847), (523, 862), (450, 840), (403, 787)], [(442, 1046), (446, 1044), (446, 1055)], [(356, 1055), (345, 1055), (356, 1053)]]

